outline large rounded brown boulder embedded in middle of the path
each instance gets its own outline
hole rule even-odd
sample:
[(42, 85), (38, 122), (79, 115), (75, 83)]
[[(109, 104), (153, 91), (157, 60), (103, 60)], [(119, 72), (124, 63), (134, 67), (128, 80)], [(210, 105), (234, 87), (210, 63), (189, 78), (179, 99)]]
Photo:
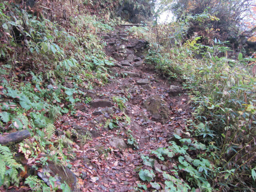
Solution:
[(143, 105), (151, 113), (154, 120), (161, 123), (166, 123), (169, 120), (170, 110), (168, 104), (160, 96), (149, 96), (143, 102)]

